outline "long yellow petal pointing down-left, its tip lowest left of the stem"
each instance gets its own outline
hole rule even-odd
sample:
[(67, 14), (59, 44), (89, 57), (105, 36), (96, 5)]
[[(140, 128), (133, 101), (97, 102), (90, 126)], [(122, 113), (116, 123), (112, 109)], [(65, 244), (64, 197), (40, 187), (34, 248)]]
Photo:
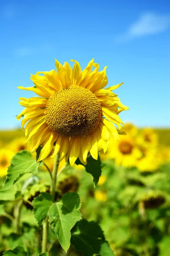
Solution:
[(51, 150), (53, 149), (53, 145), (56, 139), (57, 139), (57, 134), (53, 132), (49, 140), (47, 140), (47, 142), (41, 149), (40, 156), (37, 162), (40, 162), (41, 160), (45, 159), (51, 153)]

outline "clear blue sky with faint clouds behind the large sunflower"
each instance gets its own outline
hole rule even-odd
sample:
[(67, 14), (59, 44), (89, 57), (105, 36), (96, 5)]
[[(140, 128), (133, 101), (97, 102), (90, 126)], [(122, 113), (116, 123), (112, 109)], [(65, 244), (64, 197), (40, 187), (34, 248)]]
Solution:
[(30, 73), (94, 57), (129, 111), (123, 121), (170, 126), (170, 3), (167, 0), (0, 1), (0, 129), (20, 127)]

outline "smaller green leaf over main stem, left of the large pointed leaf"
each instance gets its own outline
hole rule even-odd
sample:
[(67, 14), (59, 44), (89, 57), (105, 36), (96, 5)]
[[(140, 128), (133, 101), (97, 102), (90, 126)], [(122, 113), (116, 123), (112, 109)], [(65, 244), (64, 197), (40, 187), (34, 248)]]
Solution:
[(53, 204), (52, 196), (49, 193), (42, 192), (33, 200), (32, 204), (34, 207), (34, 216), (39, 226), (42, 226), (42, 220), (47, 216), (48, 210)]

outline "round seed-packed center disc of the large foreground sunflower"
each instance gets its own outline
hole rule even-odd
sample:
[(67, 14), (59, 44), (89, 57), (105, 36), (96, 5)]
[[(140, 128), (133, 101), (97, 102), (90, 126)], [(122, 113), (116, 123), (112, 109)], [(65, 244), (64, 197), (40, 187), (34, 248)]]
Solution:
[(101, 116), (102, 108), (94, 93), (77, 85), (60, 89), (48, 99), (45, 108), (48, 127), (66, 137), (91, 133)]

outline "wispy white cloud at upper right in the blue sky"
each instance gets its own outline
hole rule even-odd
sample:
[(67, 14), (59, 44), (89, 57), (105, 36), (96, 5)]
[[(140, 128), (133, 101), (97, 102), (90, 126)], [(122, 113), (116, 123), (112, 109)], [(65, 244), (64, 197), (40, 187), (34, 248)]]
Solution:
[(146, 35), (154, 35), (170, 28), (170, 15), (157, 15), (152, 12), (142, 14), (127, 31), (116, 40), (133, 39)]

